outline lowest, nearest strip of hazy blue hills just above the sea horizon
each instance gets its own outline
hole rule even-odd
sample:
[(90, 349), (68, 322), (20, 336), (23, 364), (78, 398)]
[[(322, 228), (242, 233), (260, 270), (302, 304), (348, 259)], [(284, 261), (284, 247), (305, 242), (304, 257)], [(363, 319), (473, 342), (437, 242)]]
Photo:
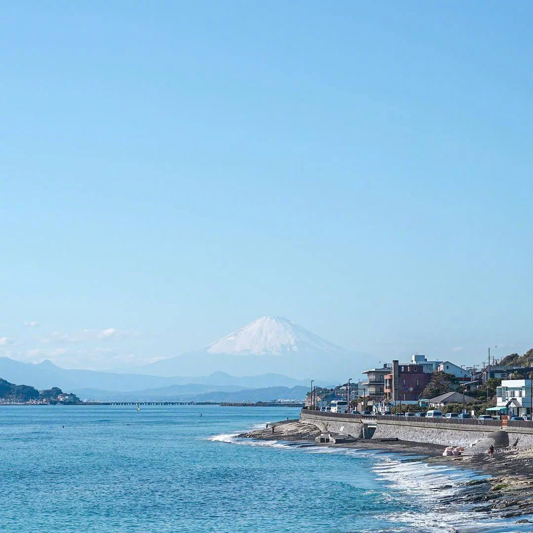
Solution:
[[(101, 389), (80, 389), (77, 394), (85, 400), (95, 401), (213, 401), (256, 402), (290, 399), (303, 401), (309, 387), (262, 387), (238, 391), (203, 391), (206, 385), (173, 385), (161, 389), (146, 389), (132, 392), (114, 392)], [(221, 387), (222, 388), (222, 387)]]

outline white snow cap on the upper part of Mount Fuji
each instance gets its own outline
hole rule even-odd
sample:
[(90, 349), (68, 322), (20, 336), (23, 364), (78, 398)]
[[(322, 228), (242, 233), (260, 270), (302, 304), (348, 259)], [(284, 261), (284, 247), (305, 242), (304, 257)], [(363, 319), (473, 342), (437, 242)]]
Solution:
[(207, 346), (208, 353), (236, 356), (275, 355), (290, 352), (342, 350), (284, 317), (261, 317)]

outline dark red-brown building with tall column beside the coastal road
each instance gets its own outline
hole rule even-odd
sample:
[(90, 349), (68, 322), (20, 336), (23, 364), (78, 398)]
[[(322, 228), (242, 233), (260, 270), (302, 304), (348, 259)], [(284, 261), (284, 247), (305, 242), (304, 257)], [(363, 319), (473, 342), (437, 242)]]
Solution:
[(416, 402), (430, 379), (431, 374), (424, 372), (423, 365), (400, 364), (394, 360), (391, 372), (385, 374), (384, 392), (389, 401)]

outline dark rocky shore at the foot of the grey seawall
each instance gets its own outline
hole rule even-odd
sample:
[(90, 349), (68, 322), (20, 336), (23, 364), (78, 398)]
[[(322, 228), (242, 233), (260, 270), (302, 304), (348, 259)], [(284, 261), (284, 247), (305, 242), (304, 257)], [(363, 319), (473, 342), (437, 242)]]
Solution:
[[(286, 440), (309, 446), (310, 443), (314, 443), (315, 437), (320, 433), (316, 426), (304, 424), (295, 419), (274, 422), (272, 425), (269, 424), (268, 428), (241, 433), (238, 437)], [(482, 518), (516, 518), (513, 522), (517, 524), (515, 531), (521, 530), (518, 524), (530, 524), (533, 527), (533, 449), (512, 447), (498, 449), (494, 457), (468, 452), (458, 457), (443, 457), (442, 451), (446, 445), (437, 446), (408, 441), (381, 442), (378, 439), (358, 439), (357, 442), (352, 443), (321, 446), (396, 451), (416, 455), (417, 457), (410, 459), (413, 462), (446, 464), (485, 474), (487, 477), (484, 479), (459, 484), (453, 497), (438, 496), (439, 491), (449, 489), (450, 485), (437, 486), (433, 489), (435, 498), (438, 498), (445, 507), (469, 505), (474, 511), (481, 513)], [(453, 510), (453, 507), (450, 510)], [(527, 531), (531, 531), (529, 526)]]

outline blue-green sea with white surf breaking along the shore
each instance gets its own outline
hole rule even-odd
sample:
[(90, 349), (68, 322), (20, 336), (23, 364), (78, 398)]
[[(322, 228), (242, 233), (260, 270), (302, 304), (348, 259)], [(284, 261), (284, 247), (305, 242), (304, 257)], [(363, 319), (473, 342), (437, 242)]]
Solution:
[[(0, 407), (0, 530), (518, 531), (512, 521), (439, 504), (477, 474), (399, 454), (234, 436), (298, 414)], [(453, 487), (432, 490), (446, 484)]]

